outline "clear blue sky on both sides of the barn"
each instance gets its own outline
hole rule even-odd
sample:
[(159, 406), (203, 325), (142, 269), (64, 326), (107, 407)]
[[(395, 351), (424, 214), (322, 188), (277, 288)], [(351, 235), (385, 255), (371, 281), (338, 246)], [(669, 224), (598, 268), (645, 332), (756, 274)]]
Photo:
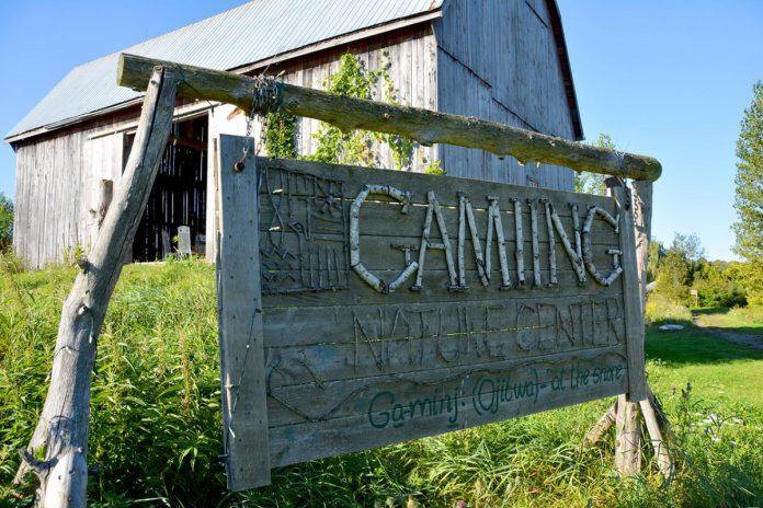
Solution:
[[(697, 233), (732, 258), (734, 142), (763, 79), (758, 0), (558, 0), (583, 128), (656, 157), (653, 233)], [(0, 134), (72, 67), (242, 3), (242, 0), (0, 2)], [(0, 192), (14, 155), (0, 147)]]

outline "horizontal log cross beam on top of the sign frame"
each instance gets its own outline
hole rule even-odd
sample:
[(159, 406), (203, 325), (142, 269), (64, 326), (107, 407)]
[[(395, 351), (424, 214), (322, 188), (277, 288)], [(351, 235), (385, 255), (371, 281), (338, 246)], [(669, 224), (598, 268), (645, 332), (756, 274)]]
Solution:
[[(262, 82), (234, 72), (204, 69), (135, 55), (119, 55), (117, 84), (144, 91), (157, 66), (174, 68), (181, 80), (179, 94), (189, 99), (252, 108), (252, 97)], [(277, 83), (280, 107), (295, 116), (317, 118), (340, 129), (365, 129), (406, 136), (421, 145), (457, 145), (512, 155), (521, 163), (546, 163), (574, 171), (656, 181), (662, 173), (651, 157), (570, 141), (474, 117), (418, 107), (385, 104)]]

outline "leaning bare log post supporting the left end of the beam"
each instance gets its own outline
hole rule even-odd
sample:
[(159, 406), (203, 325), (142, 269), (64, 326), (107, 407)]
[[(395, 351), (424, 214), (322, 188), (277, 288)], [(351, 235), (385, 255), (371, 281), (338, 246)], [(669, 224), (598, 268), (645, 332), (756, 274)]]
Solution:
[[(61, 309), (50, 386), (30, 446), (21, 451), (15, 477), (20, 482), (29, 471), (36, 473), (37, 504), (44, 508), (86, 506), (90, 381), (98, 335), (164, 152), (176, 91), (173, 70), (153, 70), (114, 203)], [(44, 459), (37, 461), (35, 452), (41, 451)]]

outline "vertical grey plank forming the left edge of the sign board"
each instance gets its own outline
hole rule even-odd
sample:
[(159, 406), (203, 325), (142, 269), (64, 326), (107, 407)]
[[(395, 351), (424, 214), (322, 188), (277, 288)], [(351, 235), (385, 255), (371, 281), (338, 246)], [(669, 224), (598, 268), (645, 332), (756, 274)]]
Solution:
[[(258, 249), (258, 173), (253, 140), (220, 136), (218, 319), (228, 488), (270, 484), (264, 337)], [(234, 171), (244, 143), (243, 171)]]

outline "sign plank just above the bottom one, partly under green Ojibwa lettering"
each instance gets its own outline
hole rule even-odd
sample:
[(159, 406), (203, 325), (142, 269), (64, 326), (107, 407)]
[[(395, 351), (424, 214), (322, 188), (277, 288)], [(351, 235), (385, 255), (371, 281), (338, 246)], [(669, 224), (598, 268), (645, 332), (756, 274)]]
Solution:
[[(320, 383), (273, 385), (269, 388), (269, 415), (272, 417), (271, 428), (330, 422), (355, 415), (366, 415), (373, 420), (379, 412), (374, 402), (384, 392), (392, 392), (402, 404), (406, 401), (432, 401), (437, 395), (474, 404), (471, 400), (476, 393), (482, 397), (494, 396), (517, 383), (535, 385), (534, 393), (525, 392), (525, 397), (532, 395), (532, 400), (526, 402), (543, 404), (554, 391), (572, 392), (602, 383), (618, 384), (627, 377), (626, 369), (625, 345), (615, 345), (528, 358), (433, 367), (407, 372), (406, 376), (387, 373)], [(496, 382), (479, 386), (480, 378)], [(520, 394), (519, 391), (513, 393), (517, 399)], [(373, 422), (366, 425), (368, 430), (377, 428)]]

